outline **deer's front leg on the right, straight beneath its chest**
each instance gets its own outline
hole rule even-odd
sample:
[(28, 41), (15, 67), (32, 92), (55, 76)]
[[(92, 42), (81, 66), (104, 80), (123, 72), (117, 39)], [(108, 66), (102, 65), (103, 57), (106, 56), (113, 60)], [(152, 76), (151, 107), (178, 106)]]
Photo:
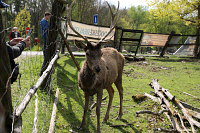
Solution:
[(97, 92), (97, 106), (96, 106), (96, 115), (97, 115), (97, 132), (100, 133), (100, 108), (101, 108), (101, 100), (103, 95), (103, 89)]

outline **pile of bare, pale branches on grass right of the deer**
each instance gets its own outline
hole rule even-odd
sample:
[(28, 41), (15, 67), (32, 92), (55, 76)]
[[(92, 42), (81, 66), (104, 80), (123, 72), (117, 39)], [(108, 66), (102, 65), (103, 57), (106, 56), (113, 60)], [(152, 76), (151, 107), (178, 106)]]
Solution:
[(155, 96), (147, 93), (145, 93), (145, 96), (160, 103), (162, 110), (158, 113), (148, 110), (138, 111), (136, 112), (137, 115), (148, 113), (160, 116), (164, 113), (172, 123), (173, 129), (157, 128), (154, 129), (155, 131), (198, 132), (200, 129), (200, 109), (178, 100), (168, 90), (161, 87), (157, 80), (153, 80), (150, 86), (154, 89)]

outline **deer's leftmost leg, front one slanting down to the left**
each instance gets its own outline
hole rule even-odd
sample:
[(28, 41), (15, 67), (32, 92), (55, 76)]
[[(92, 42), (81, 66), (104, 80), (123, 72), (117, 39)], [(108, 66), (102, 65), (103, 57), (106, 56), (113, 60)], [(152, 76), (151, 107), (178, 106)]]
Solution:
[(83, 113), (83, 119), (81, 122), (81, 126), (79, 129), (83, 129), (85, 124), (86, 124), (86, 114), (87, 114), (87, 110), (89, 107), (89, 95), (87, 93), (85, 93), (85, 107), (84, 107), (84, 113)]

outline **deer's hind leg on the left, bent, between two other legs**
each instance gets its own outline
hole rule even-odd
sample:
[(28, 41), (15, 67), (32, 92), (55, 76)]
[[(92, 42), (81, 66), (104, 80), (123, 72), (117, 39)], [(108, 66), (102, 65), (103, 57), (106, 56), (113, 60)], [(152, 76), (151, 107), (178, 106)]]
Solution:
[(108, 94), (109, 94), (109, 103), (108, 103), (107, 112), (106, 112), (103, 122), (107, 122), (107, 120), (109, 119), (110, 108), (111, 108), (112, 100), (114, 96), (114, 89), (112, 86), (109, 86), (108, 88), (106, 88), (106, 90), (108, 91)]

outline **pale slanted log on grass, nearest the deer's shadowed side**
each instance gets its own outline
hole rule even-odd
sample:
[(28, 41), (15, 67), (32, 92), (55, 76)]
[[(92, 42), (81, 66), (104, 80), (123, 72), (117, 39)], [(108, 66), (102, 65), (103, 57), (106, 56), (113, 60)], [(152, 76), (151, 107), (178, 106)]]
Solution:
[(53, 104), (53, 111), (52, 111), (52, 115), (51, 115), (51, 122), (50, 122), (48, 133), (54, 133), (55, 120), (56, 120), (56, 110), (57, 110), (57, 103), (58, 103), (58, 95), (59, 95), (59, 89), (57, 88), (56, 98), (55, 98), (54, 104)]

